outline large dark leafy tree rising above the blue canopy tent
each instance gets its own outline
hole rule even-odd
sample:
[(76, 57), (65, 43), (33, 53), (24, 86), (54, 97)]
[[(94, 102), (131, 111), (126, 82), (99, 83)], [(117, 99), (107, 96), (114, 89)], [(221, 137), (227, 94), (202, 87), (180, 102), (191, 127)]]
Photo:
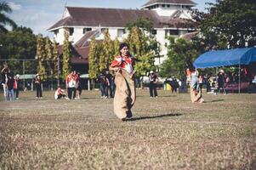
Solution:
[(208, 14), (195, 13), (200, 42), (207, 49), (243, 48), (256, 45), (255, 0), (217, 0)]

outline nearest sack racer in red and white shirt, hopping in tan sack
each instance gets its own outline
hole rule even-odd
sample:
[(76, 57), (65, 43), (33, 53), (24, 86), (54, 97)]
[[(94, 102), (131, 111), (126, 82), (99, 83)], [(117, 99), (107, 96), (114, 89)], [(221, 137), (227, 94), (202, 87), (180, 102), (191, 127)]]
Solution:
[(122, 121), (132, 117), (132, 107), (136, 94), (134, 86), (134, 65), (135, 60), (128, 52), (128, 44), (121, 43), (119, 47), (120, 55), (117, 56), (109, 68), (115, 71), (116, 93), (114, 96), (114, 113)]

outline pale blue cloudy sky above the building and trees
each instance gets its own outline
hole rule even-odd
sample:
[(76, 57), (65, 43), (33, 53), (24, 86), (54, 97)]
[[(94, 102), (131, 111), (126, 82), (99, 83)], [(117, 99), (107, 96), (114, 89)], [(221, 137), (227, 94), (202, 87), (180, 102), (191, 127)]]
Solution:
[[(9, 17), (19, 26), (30, 27), (35, 34), (53, 37), (47, 29), (61, 19), (64, 7), (140, 8), (149, 0), (0, 0), (9, 3), (13, 13)], [(194, 0), (196, 8), (205, 10), (205, 3), (215, 0)]]

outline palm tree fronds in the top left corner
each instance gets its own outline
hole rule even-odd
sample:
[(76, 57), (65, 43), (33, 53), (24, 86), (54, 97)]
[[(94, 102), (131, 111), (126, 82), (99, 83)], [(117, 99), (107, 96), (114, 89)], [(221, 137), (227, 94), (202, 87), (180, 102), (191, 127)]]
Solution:
[(6, 16), (7, 13), (11, 13), (11, 12), (12, 12), (12, 8), (10, 8), (8, 3), (0, 2), (0, 31), (4, 31), (4, 32), (8, 31), (4, 27), (5, 25), (12, 26), (13, 28), (17, 27), (14, 20), (11, 20), (8, 16)]

